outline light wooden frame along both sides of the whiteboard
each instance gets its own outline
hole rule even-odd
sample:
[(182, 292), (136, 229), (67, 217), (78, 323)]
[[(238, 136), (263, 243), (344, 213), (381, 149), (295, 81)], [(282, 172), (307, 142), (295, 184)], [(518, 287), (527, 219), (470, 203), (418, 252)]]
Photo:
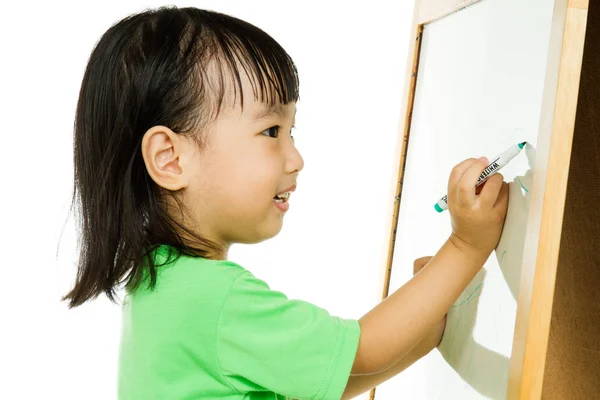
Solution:
[[(382, 300), (389, 294), (424, 25), (480, 0), (415, 0), (390, 199)], [(549, 0), (550, 1), (550, 0)], [(554, 0), (536, 165), (507, 398), (540, 399), (579, 93), (589, 0)], [(552, 160), (550, 163), (549, 160)], [(370, 399), (376, 398), (372, 389)]]

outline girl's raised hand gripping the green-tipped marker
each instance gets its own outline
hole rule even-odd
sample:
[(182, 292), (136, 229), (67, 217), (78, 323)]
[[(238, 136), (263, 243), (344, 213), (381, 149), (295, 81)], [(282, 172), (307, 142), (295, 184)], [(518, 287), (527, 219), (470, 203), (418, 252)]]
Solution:
[(475, 190), (487, 165), (484, 157), (467, 159), (454, 167), (448, 180), (450, 241), (461, 250), (475, 251), (486, 258), (500, 241), (508, 208), (508, 185), (502, 174), (493, 175)]

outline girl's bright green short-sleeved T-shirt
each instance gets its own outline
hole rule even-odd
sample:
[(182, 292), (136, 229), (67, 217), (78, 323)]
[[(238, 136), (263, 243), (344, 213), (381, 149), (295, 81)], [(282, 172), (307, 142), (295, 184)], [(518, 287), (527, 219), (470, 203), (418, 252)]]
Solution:
[(358, 321), (290, 300), (227, 260), (181, 256), (157, 271), (153, 291), (144, 283), (123, 301), (119, 400), (341, 397)]

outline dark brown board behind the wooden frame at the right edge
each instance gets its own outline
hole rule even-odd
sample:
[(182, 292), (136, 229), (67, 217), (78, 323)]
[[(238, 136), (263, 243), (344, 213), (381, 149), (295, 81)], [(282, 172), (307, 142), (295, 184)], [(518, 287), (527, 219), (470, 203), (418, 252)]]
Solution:
[(600, 2), (589, 5), (544, 400), (600, 399)]

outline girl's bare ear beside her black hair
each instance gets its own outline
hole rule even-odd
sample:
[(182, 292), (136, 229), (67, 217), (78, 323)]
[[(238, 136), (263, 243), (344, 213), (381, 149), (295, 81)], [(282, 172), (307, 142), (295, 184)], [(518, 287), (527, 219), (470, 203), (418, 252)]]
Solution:
[(142, 157), (148, 174), (157, 185), (171, 191), (188, 186), (182, 155), (187, 143), (165, 126), (153, 126), (142, 138)]

